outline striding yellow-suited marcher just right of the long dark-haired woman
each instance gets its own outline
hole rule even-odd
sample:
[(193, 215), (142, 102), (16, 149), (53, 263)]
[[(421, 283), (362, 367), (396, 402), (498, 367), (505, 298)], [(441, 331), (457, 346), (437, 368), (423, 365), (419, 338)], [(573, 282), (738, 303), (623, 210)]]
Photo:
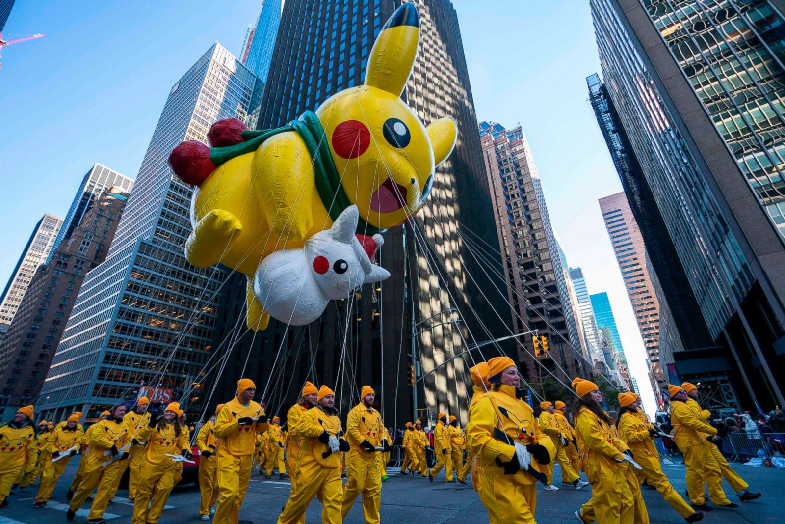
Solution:
[(651, 424), (641, 421), (637, 412), (639, 409), (637, 395), (626, 392), (619, 393), (619, 415), (616, 418), (616, 428), (619, 431), (619, 438), (630, 446), (637, 464), (643, 468), (641, 475), (648, 482), (649, 486), (654, 486), (663, 495), (665, 501), (671, 508), (678, 511), (687, 522), (698, 522), (703, 519), (703, 511), (695, 511), (690, 508), (674, 486), (670, 485), (668, 478), (663, 473), (663, 468), (659, 465), (659, 454), (654, 447), (652, 438), (655, 438), (658, 431)]

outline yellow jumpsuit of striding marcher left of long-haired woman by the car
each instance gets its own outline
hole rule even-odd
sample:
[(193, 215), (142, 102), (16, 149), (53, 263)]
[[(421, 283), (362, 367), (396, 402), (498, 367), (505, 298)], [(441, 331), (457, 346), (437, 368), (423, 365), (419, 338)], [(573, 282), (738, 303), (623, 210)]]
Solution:
[(119, 450), (130, 442), (131, 436), (122, 420), (119, 422), (115, 419), (100, 420), (90, 429), (93, 431), (90, 431), (90, 451), (85, 464), (84, 478), (79, 484), (79, 489), (74, 493), (69, 507), (71, 511), (78, 510), (90, 493), (93, 493), (93, 489), (98, 488), (87, 518), (99, 519), (104, 516), (117, 475), (122, 471), (124, 466), (122, 463), (125, 462), (125, 460), (115, 460), (104, 467), (104, 462), (111, 459), (111, 455), (104, 456), (104, 452), (109, 451), (112, 446)]

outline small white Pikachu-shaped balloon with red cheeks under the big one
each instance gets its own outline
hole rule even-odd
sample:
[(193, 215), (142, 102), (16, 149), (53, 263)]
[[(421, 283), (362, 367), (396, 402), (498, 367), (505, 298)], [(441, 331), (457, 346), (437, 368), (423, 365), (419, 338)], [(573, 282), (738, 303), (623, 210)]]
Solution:
[[(254, 294), (273, 318), (305, 325), (319, 318), (330, 300), (347, 299), (356, 288), (387, 280), (387, 269), (371, 262), (370, 252), (357, 240), (360, 212), (347, 207), (326, 229), (305, 241), (301, 249), (268, 255), (254, 275)], [(374, 235), (375, 247), (384, 243)]]

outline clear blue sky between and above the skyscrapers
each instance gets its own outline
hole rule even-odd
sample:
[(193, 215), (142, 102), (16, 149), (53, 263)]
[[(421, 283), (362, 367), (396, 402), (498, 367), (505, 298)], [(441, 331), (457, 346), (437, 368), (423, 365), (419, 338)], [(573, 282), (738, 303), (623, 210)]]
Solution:
[[(35, 222), (63, 217), (93, 163), (136, 177), (170, 87), (213, 44), (239, 54), (259, 0), (16, 2), (0, 70), (0, 284)], [(521, 123), (551, 222), (589, 291), (611, 298), (627, 360), (644, 350), (597, 199), (621, 191), (590, 104), (599, 68), (588, 0), (454, 0), (477, 118)]]

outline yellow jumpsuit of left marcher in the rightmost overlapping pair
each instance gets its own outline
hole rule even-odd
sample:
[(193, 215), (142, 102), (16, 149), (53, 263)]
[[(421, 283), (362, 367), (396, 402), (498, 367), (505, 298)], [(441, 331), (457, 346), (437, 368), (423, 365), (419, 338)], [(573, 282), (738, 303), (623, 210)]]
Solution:
[(730, 500), (722, 490), (720, 467), (711, 455), (711, 444), (706, 435), (715, 435), (717, 430), (700, 418), (687, 402), (670, 401), (670, 423), (673, 424), (674, 442), (685, 456), (687, 467), (687, 491), (692, 504), (700, 506), (706, 502), (703, 495), (703, 482), (709, 489), (709, 497), (717, 506), (727, 506)]

